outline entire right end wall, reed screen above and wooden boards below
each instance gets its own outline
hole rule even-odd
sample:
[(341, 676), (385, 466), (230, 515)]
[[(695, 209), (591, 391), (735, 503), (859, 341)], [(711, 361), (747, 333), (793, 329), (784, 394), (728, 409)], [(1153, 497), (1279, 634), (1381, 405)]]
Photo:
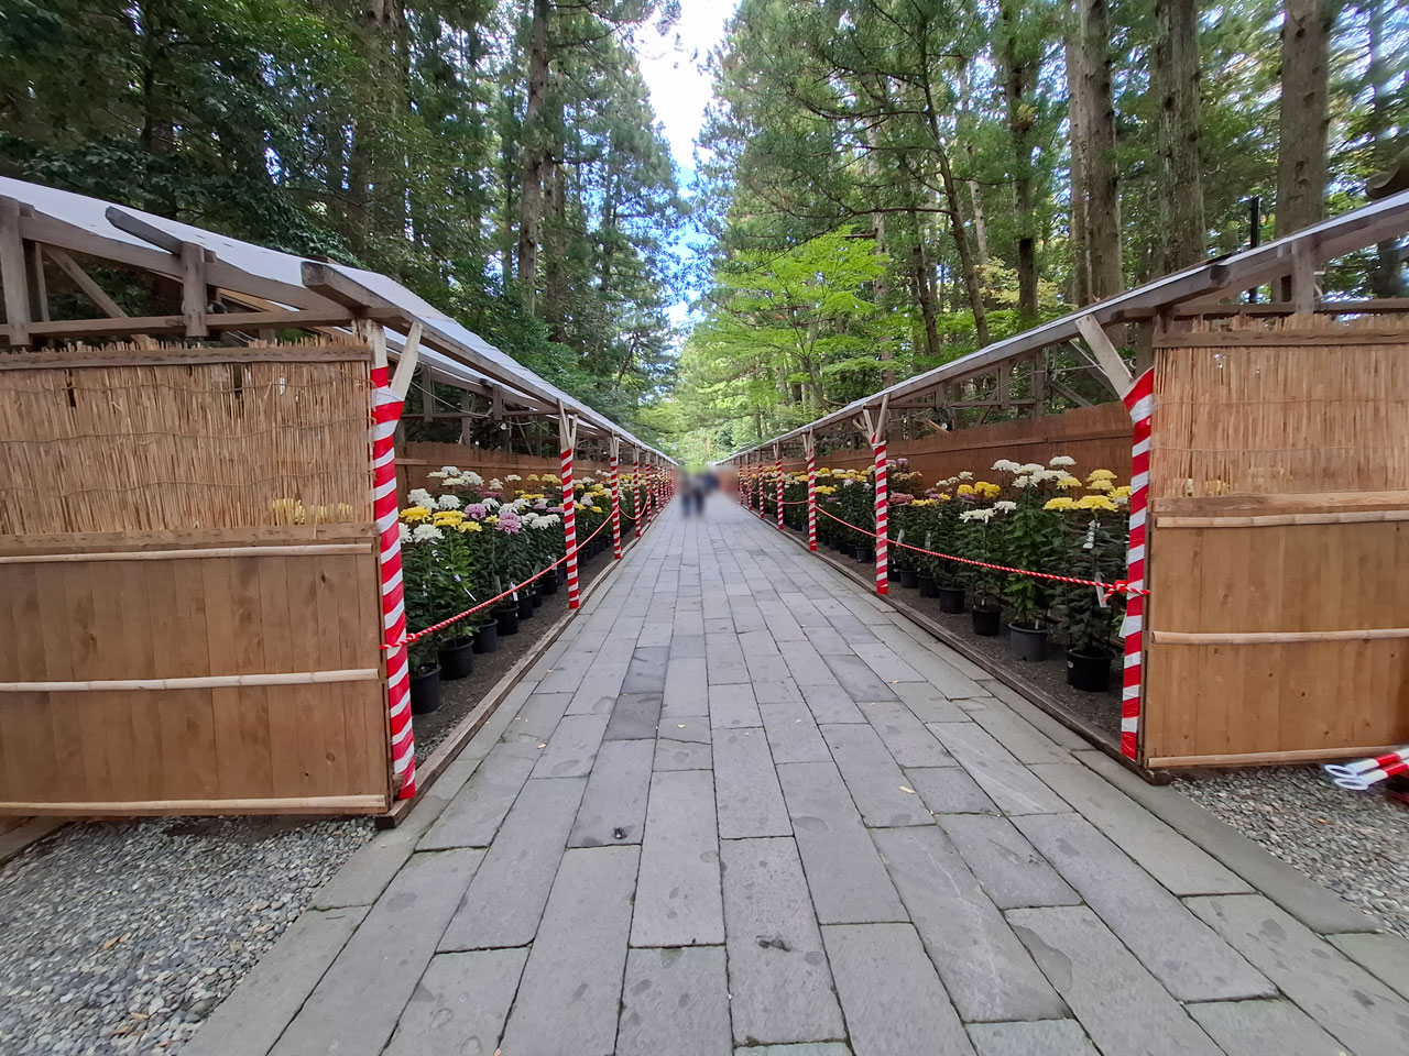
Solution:
[(1147, 766), (1409, 742), (1409, 344), (1326, 327), (1157, 351)]

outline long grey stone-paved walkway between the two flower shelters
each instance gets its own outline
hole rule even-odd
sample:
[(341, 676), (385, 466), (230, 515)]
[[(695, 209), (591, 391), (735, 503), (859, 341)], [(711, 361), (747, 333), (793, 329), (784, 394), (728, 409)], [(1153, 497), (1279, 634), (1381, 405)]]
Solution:
[(672, 508), (186, 1056), (1389, 1056), (1409, 946)]

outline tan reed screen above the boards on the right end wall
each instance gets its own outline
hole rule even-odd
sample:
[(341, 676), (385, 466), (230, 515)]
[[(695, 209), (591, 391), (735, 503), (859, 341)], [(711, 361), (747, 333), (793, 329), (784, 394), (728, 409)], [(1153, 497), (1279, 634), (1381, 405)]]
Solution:
[(1217, 345), (1160, 349), (1154, 496), (1409, 487), (1409, 334), (1354, 342), (1384, 325), (1251, 320)]

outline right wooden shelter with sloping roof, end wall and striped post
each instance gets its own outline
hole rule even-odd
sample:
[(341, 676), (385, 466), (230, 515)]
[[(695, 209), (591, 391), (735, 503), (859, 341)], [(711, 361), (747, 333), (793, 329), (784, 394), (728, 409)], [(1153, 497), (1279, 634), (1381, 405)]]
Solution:
[[(1150, 596), (1123, 629), (1123, 753), (1146, 767), (1378, 755), (1409, 741), (1409, 298), (1323, 298), (1317, 272), (1406, 231), (1402, 191), (728, 463), (745, 486), (783, 453), (785, 469), (814, 465), (814, 448), (824, 465), (879, 470), (889, 438), (927, 480), (1058, 453), (1131, 466), (1130, 580)], [(1289, 298), (1243, 303), (1268, 283)]]

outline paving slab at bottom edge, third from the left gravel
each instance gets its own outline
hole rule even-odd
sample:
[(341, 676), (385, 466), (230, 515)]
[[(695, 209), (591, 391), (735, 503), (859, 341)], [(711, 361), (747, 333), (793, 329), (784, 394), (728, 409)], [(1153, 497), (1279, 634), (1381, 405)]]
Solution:
[(431, 957), (385, 1056), (493, 1052), (527, 959), (527, 949), (483, 949)]

